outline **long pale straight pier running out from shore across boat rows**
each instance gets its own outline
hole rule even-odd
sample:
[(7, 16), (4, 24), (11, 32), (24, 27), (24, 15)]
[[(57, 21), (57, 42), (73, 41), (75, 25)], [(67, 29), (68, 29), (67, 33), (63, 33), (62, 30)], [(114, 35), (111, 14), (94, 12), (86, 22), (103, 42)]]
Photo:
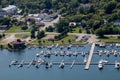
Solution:
[(89, 56), (88, 56), (88, 59), (87, 59), (86, 65), (85, 65), (85, 70), (88, 70), (90, 67), (90, 63), (91, 63), (92, 56), (94, 53), (94, 48), (95, 48), (95, 43), (93, 43), (91, 46), (90, 53), (89, 53)]

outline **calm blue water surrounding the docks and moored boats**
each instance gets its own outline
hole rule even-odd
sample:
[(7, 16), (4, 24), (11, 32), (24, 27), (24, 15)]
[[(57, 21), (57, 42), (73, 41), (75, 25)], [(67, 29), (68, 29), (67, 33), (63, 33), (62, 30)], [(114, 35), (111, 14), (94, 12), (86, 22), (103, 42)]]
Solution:
[[(85, 51), (89, 52), (90, 45), (86, 45), (85, 47), (72, 47), (71, 51)], [(104, 48), (95, 48), (95, 51), (98, 49), (104, 50)], [(115, 49), (120, 51), (120, 48), (116, 47), (107, 47), (108, 50)], [(65, 65), (64, 69), (59, 69), (59, 65), (53, 65), (52, 68), (46, 69), (45, 65), (41, 65), (39, 69), (36, 69), (35, 66), (31, 66), (27, 68), (27, 66), (23, 66), (23, 68), (17, 68), (17, 66), (12, 66), (9, 68), (9, 64), (13, 59), (18, 61), (31, 61), (36, 58), (36, 53), (41, 50), (46, 51), (47, 48), (39, 49), (39, 48), (31, 48), (25, 49), (20, 52), (9, 52), (4, 49), (0, 51), (0, 80), (120, 80), (119, 74), (120, 70), (114, 69), (114, 65), (105, 65), (103, 70), (99, 70), (97, 65), (90, 65), (89, 70), (84, 70), (85, 65), (74, 65), (72, 69), (70, 69), (70, 65)], [(51, 51), (60, 51), (60, 49), (52, 49)], [(63, 51), (66, 51), (67, 47), (64, 47)], [(88, 57), (88, 55), (86, 55)], [(62, 57), (62, 56), (54, 56), (52, 55), (50, 58), (45, 58), (41, 56), (41, 58), (46, 59), (47, 61), (61, 61), (64, 59), (65, 61), (83, 61), (83, 57), (79, 55), (78, 57)], [(120, 57), (110, 55), (110, 57), (106, 57), (106, 55), (93, 55), (92, 62), (98, 62), (100, 59), (108, 59), (110, 62), (114, 62), (115, 60), (120, 61)]]

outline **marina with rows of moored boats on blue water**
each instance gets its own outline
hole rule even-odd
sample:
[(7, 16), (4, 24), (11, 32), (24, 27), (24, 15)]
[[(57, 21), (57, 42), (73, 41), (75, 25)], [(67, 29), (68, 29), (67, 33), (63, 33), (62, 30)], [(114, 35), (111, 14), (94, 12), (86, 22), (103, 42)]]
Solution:
[[(49, 76), (52, 80), (58, 78), (63, 80), (73, 80), (76, 78), (76, 80), (79, 80), (79, 76), (84, 80), (96, 80), (92, 75), (89, 76), (90, 74), (96, 75), (102, 80), (119, 79), (120, 48), (116, 46), (111, 47), (109, 45), (105, 48), (95, 46), (92, 51), (89, 69), (84, 70), (88, 63), (91, 49), (92, 44), (70, 46), (69, 49), (68, 46), (62, 46), (62, 49), (60, 46), (53, 46), (51, 49), (48, 49), (48, 47), (32, 47), (18, 52), (10, 52), (4, 49), (1, 50), (0, 55), (0, 63), (2, 63), (1, 67), (3, 67), (0, 69), (0, 71), (3, 72), (0, 74), (0, 77), (4, 80), (8, 80), (8, 78), (4, 76), (7, 72), (7, 75), (10, 75), (8, 76), (9, 79), (15, 80), (24, 80), (24, 78), (36, 80), (41, 77), (47, 80), (48, 78), (46, 76)], [(101, 51), (101, 55), (99, 55), (99, 51)], [(114, 55), (114, 52), (117, 56)], [(111, 73), (110, 77), (106, 78), (106, 74), (111, 71), (114, 74)], [(27, 77), (28, 75), (30, 75), (30, 77)], [(87, 77), (84, 77), (84, 75)], [(111, 77), (113, 75), (115, 76), (114, 78)]]

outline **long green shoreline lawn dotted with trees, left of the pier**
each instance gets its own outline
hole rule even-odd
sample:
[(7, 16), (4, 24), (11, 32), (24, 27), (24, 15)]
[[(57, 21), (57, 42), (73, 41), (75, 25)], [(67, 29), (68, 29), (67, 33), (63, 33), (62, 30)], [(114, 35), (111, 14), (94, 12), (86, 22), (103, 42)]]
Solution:
[[(76, 41), (74, 41), (74, 38), (75, 38), (75, 36), (69, 35), (69, 36), (66, 36), (65, 38), (63, 38), (61, 40), (54, 41), (54, 43), (52, 41), (41, 39), (40, 45), (53, 45), (53, 44), (54, 45), (55, 44), (61, 44), (61, 45), (81, 44), (81, 45), (84, 45), (84, 44), (86, 44), (85, 42), (76, 42)], [(69, 40), (71, 40), (71, 42), (69, 42)], [(38, 43), (38, 40), (35, 40), (28, 45), (39, 45), (39, 43)]]

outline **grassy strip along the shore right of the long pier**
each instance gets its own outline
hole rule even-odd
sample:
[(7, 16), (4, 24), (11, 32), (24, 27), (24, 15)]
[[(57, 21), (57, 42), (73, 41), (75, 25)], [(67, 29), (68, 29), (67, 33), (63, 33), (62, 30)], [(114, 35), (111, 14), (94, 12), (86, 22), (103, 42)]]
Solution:
[(106, 42), (106, 43), (120, 43), (120, 39), (118, 39), (117, 37), (103, 37), (103, 38), (99, 38), (101, 40), (101, 42)]

